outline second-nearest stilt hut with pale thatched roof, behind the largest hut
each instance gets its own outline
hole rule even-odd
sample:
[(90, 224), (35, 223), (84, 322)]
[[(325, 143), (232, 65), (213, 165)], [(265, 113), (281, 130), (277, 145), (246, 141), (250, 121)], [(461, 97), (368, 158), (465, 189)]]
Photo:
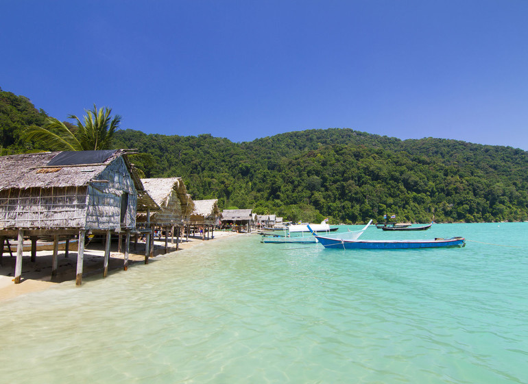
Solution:
[(176, 249), (180, 237), (184, 233), (184, 225), (189, 224), (194, 202), (182, 178), (148, 178), (141, 179), (145, 191), (152, 200), (160, 206), (160, 210), (149, 215), (138, 215), (138, 226), (148, 226), (158, 230), (160, 235), (165, 232), (165, 253), (167, 253), (168, 235), (174, 242), (176, 233)]

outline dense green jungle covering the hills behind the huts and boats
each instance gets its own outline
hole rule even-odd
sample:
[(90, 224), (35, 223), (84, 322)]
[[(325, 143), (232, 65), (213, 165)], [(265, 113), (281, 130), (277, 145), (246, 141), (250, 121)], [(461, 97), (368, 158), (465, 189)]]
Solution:
[[(4, 152), (39, 149), (17, 140), (23, 126), (43, 123), (45, 112), (5, 94)], [(337, 128), (248, 143), (119, 130), (114, 147), (138, 149), (133, 161), (146, 177), (182, 177), (195, 200), (217, 198), (220, 208), (293, 221), (355, 224), (383, 221), (385, 214), (419, 223), (528, 220), (528, 152), (512, 147), (401, 141)]]

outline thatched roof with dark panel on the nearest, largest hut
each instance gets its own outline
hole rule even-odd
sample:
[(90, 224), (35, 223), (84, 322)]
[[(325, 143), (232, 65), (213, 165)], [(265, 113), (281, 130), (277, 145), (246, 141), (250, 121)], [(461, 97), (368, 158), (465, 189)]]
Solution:
[(112, 161), (122, 156), (138, 192), (138, 209), (140, 206), (158, 209), (157, 204), (143, 192), (143, 184), (136, 176), (126, 156), (123, 156), (125, 154), (126, 151), (123, 149), (114, 149), (112, 151), (40, 152), (0, 156), (0, 191), (86, 186), (91, 182), (96, 182), (97, 176)]

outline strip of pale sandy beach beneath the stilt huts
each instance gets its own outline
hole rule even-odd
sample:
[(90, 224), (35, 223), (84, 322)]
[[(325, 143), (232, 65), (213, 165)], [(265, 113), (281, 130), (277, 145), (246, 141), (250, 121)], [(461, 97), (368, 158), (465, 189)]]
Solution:
[[(218, 241), (222, 238), (237, 235), (237, 232), (215, 231), (214, 239), (206, 241)], [(194, 245), (202, 243), (202, 239), (197, 237), (189, 237), (188, 241), (182, 241), (178, 245), (178, 252), (192, 248)], [(76, 244), (75, 244), (76, 247)], [(176, 251), (175, 243), (171, 243), (169, 239), (167, 253)], [(51, 250), (41, 250), (36, 253), (36, 261), (31, 262), (31, 252), (23, 252), (22, 262), (22, 280), (20, 284), (14, 284), (14, 266), (15, 253), (10, 256), (9, 252), (3, 253), (2, 265), (0, 266), (0, 301), (10, 300), (17, 296), (24, 295), (35, 291), (42, 291), (56, 286), (60, 283), (75, 282), (75, 273), (77, 268), (77, 250), (70, 247), (68, 257), (65, 257), (64, 250), (60, 250), (58, 254), (58, 273), (57, 276), (51, 278)], [(165, 240), (154, 241), (154, 258), (165, 254)], [(112, 278), (112, 274), (126, 273), (123, 271), (124, 254), (117, 252), (117, 243), (112, 243), (110, 250), (110, 260), (108, 262), (108, 278)], [(103, 278), (103, 259), (104, 259), (104, 245), (101, 243), (89, 243), (84, 250), (84, 264), (83, 277), (94, 276), (99, 274)], [(137, 263), (145, 262), (145, 243), (137, 243), (134, 249), (134, 243), (130, 243), (130, 254), (128, 256), (128, 265), (133, 268)]]

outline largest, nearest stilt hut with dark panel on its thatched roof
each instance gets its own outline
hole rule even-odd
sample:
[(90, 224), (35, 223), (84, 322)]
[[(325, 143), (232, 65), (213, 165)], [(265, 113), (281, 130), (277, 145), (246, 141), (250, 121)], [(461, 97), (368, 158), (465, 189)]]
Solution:
[(25, 237), (34, 245), (32, 261), (38, 237), (53, 237), (53, 277), (57, 274), (59, 237), (78, 236), (75, 281), (80, 285), (86, 233), (106, 235), (104, 276), (108, 273), (111, 232), (124, 233), (124, 269), (128, 269), (136, 211), (138, 207), (158, 206), (145, 193), (127, 153), (114, 149), (0, 156), (0, 252), (6, 240), (16, 239), (14, 283), (21, 282)]

